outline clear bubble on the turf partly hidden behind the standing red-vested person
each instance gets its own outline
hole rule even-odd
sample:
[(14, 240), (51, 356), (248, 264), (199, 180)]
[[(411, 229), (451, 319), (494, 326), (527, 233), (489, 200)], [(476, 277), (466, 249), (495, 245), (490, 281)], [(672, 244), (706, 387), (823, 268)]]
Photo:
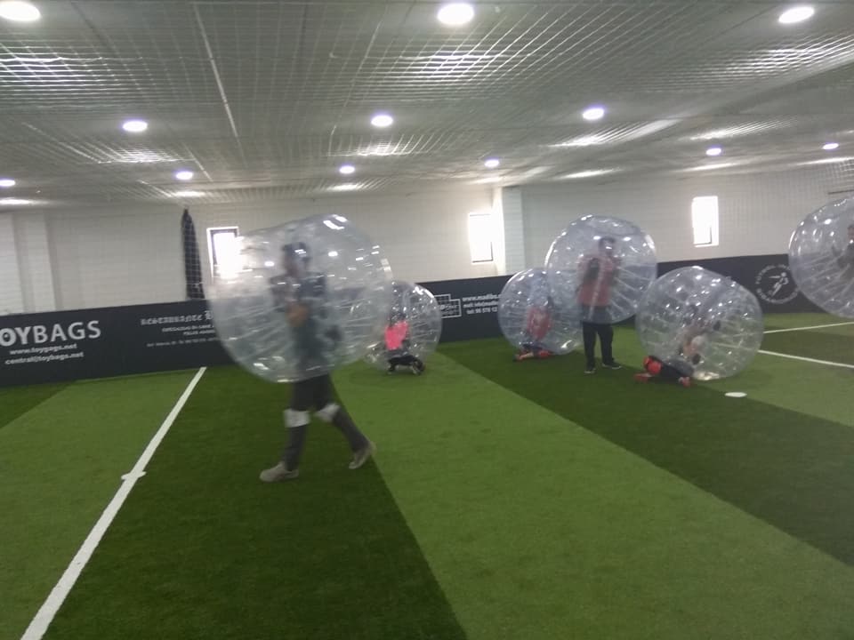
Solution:
[(520, 271), (504, 284), (498, 297), (498, 324), (516, 348), (567, 354), (581, 342), (581, 308), (560, 306), (541, 268)]

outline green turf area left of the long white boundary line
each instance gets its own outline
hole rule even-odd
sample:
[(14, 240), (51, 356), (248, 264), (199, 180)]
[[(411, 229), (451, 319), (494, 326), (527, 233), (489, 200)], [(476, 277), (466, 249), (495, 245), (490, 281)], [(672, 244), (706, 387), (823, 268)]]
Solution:
[(189, 379), (4, 391), (31, 408), (0, 429), (0, 640), (20, 637)]

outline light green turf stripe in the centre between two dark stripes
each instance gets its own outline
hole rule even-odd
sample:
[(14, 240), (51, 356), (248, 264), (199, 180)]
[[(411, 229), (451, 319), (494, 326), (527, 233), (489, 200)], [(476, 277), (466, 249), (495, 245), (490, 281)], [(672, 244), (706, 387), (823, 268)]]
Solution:
[[(501, 368), (488, 345), (470, 348)], [(531, 375), (552, 396), (578, 393)], [(844, 564), (441, 355), (420, 378), (363, 366), (338, 385), (471, 640), (854, 628)]]

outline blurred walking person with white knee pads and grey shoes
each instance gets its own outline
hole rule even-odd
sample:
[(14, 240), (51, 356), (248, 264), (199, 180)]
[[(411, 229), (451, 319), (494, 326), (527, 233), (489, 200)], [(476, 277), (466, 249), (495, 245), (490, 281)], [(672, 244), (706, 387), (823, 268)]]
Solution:
[(300, 475), (299, 464), (311, 421), (310, 409), (325, 422), (338, 428), (353, 453), (350, 468), (357, 469), (374, 454), (374, 443), (359, 431), (344, 408), (334, 402), (334, 387), (328, 373), (331, 354), (341, 340), (341, 332), (326, 313), (326, 276), (311, 273), (309, 248), (305, 243), (282, 247), (285, 273), (270, 278), (276, 306), (294, 332), (294, 357), (305, 372), (318, 375), (292, 384), (290, 405), (285, 411), (288, 439), (281, 460), (261, 473), (263, 482), (292, 480)]

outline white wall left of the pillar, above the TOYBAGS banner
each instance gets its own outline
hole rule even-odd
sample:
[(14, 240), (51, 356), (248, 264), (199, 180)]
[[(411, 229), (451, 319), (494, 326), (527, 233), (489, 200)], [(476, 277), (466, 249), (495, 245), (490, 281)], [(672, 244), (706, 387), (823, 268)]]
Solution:
[[(265, 228), (320, 212), (341, 212), (383, 246), (394, 276), (426, 282), (494, 276), (495, 263), (471, 264), (468, 213), (491, 211), (489, 189), (411, 196), (190, 205), (205, 282), (206, 228)], [(111, 307), (184, 300), (181, 205), (16, 212), (15, 236), (0, 218), (0, 268), (11, 312)], [(46, 220), (39, 222), (39, 220)], [(39, 234), (41, 224), (41, 234)], [(8, 221), (12, 229), (12, 216)], [(23, 256), (23, 259), (21, 259)], [(18, 262), (24, 266), (18, 272)], [(13, 300), (12, 300), (13, 298)], [(25, 300), (26, 298), (26, 304)], [(4, 309), (0, 300), (0, 311)]]

